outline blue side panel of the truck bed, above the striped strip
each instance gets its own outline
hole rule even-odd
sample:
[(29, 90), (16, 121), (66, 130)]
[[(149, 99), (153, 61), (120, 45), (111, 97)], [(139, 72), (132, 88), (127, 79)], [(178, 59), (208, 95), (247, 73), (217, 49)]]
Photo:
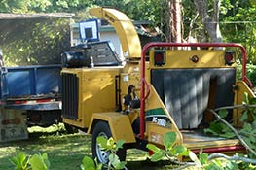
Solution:
[(60, 93), (60, 65), (7, 67), (1, 70), (1, 99)]

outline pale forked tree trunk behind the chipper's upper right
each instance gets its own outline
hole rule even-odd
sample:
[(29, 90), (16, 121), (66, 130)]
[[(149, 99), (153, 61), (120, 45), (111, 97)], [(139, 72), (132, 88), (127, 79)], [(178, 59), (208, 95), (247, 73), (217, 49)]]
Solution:
[(222, 42), (222, 36), (219, 29), (219, 9), (220, 0), (214, 0), (213, 15), (208, 15), (207, 0), (194, 0), (196, 8), (201, 17), (201, 23), (207, 31), (212, 42)]

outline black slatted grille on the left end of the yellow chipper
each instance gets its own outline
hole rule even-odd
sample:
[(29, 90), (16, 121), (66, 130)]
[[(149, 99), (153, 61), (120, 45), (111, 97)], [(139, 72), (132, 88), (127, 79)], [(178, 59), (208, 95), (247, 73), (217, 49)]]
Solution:
[(78, 119), (79, 79), (75, 74), (62, 73), (62, 115), (65, 119)]

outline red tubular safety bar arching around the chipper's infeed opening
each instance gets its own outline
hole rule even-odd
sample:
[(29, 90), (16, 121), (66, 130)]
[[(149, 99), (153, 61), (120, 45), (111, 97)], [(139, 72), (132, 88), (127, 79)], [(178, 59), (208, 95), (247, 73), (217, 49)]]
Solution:
[[(237, 43), (148, 43), (142, 49), (141, 55), (141, 91), (140, 91), (140, 139), (144, 139), (145, 133), (145, 100), (149, 95), (149, 85), (146, 82), (145, 78), (145, 61), (146, 61), (146, 52), (151, 48), (156, 47), (234, 47), (240, 48), (242, 53), (242, 72), (241, 77), (242, 81), (247, 83), (251, 88), (252, 84), (249, 79), (246, 77), (246, 62), (247, 62), (247, 53), (245, 48)], [(147, 95), (145, 95), (145, 85), (147, 85)]]

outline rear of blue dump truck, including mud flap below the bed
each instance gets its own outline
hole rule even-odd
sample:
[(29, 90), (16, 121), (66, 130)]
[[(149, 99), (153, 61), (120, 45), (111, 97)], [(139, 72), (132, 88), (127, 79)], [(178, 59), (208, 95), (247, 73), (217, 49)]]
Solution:
[(61, 65), (2, 67), (0, 142), (27, 138), (26, 126), (61, 121)]

